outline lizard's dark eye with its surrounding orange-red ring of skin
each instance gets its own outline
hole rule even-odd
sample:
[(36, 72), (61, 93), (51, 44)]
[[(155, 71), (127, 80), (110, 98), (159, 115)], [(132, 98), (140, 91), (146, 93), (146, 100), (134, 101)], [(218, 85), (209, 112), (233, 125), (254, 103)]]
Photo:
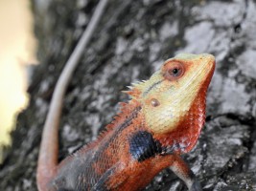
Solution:
[(183, 65), (179, 62), (175, 62), (175, 63), (172, 63), (172, 65), (166, 69), (164, 76), (169, 80), (175, 80), (181, 77), (183, 74), (184, 74)]

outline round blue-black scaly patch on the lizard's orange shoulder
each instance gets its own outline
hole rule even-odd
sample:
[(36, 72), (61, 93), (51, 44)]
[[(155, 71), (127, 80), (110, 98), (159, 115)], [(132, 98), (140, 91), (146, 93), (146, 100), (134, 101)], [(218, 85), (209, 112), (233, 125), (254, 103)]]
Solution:
[(152, 138), (151, 133), (139, 131), (129, 139), (129, 152), (133, 159), (143, 161), (162, 153), (162, 147), (158, 140)]

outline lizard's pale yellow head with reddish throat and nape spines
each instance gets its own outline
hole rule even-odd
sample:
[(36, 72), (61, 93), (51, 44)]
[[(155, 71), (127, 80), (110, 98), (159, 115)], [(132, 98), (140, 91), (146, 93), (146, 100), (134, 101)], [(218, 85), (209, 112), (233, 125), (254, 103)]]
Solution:
[(180, 53), (166, 60), (149, 80), (134, 85), (128, 94), (141, 103), (145, 122), (153, 133), (172, 132), (185, 118), (190, 118), (187, 124), (194, 127), (199, 121), (196, 128), (201, 128), (214, 68), (211, 54)]

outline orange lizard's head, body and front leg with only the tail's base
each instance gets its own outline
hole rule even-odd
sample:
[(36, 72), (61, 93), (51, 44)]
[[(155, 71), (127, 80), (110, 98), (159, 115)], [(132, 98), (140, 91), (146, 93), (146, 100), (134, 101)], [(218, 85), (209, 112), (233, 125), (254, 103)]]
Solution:
[[(212, 54), (179, 53), (166, 60), (149, 80), (128, 87), (130, 99), (120, 104), (120, 112), (96, 140), (59, 164), (58, 153), (48, 155), (51, 148), (41, 145), (38, 189), (141, 190), (170, 167), (190, 191), (201, 190), (181, 155), (194, 148), (204, 125), (214, 70)], [(48, 131), (58, 134), (54, 128)], [(58, 139), (52, 141), (48, 146)]]

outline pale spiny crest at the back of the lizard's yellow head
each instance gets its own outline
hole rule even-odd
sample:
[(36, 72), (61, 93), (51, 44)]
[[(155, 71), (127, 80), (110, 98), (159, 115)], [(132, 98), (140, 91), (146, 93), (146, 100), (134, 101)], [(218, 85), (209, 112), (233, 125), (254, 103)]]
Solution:
[(128, 86), (128, 91), (122, 91), (125, 94), (128, 94), (128, 96), (131, 96), (131, 98), (139, 98), (139, 96), (142, 94), (143, 90), (146, 87), (146, 80), (137, 81), (135, 83), (131, 83), (131, 86)]

